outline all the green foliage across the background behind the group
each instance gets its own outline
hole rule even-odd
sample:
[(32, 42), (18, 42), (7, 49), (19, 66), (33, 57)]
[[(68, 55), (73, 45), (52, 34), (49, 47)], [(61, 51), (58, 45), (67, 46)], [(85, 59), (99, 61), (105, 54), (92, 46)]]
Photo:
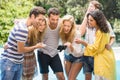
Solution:
[[(65, 14), (71, 14), (80, 24), (88, 6), (88, 1), (91, 0), (0, 0), (0, 44), (7, 41), (8, 34), (14, 25), (14, 19), (27, 17), (29, 10), (34, 5), (42, 6), (46, 10), (50, 7), (57, 7), (60, 9), (61, 17)], [(114, 31), (120, 31), (117, 28), (120, 25), (120, 1), (98, 1), (103, 5), (103, 12), (112, 23)]]

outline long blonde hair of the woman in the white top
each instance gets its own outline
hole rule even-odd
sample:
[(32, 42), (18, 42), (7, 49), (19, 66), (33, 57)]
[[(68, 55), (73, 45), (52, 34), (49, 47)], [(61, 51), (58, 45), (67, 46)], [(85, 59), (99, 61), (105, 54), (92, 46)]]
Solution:
[[(64, 27), (64, 21), (70, 21), (71, 24), (72, 24), (72, 28), (69, 32), (69, 34), (65, 34), (63, 32), (63, 27)], [(60, 24), (60, 37), (61, 37), (61, 40), (63, 43), (65, 42), (73, 42), (73, 39), (75, 37), (75, 31), (76, 31), (76, 26), (75, 26), (75, 20), (74, 20), (74, 17), (72, 15), (65, 15), (63, 18), (62, 18), (62, 22)], [(67, 36), (67, 37), (66, 37)]]

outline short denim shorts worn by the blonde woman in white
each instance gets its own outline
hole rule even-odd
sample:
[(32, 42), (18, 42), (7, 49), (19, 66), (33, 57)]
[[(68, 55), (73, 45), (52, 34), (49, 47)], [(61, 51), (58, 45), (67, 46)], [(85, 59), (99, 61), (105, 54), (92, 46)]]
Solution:
[(74, 57), (72, 54), (66, 54), (64, 53), (64, 59), (66, 61), (69, 61), (71, 63), (76, 63), (76, 62), (83, 62), (83, 56), (81, 57)]

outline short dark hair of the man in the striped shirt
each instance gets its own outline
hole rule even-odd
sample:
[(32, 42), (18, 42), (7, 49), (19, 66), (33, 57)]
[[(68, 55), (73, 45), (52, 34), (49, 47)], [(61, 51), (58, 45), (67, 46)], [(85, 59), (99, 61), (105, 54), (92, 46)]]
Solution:
[(35, 17), (37, 17), (39, 14), (45, 15), (46, 10), (43, 7), (35, 7), (30, 11), (29, 17), (31, 17), (32, 14), (35, 15)]

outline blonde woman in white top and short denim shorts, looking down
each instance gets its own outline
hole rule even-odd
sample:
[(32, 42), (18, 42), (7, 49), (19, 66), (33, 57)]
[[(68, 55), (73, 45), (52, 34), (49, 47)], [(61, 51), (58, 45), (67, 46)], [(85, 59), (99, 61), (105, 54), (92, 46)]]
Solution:
[(68, 80), (76, 80), (83, 64), (82, 46), (75, 43), (76, 38), (81, 38), (81, 33), (76, 29), (74, 17), (65, 15), (60, 25), (62, 44), (67, 46), (64, 51), (64, 65)]

